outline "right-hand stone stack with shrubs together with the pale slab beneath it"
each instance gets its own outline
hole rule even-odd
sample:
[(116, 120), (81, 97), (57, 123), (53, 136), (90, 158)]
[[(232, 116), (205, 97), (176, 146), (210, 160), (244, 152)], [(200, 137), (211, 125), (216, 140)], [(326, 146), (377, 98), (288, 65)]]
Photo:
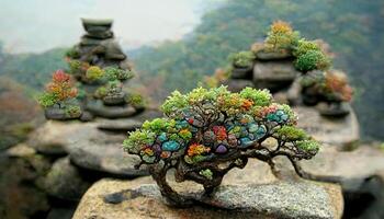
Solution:
[[(359, 125), (350, 106), (352, 89), (346, 73), (331, 69), (330, 57), (326, 43), (301, 38), (290, 24), (278, 21), (264, 42), (229, 56), (229, 79), (224, 83), (231, 91), (268, 89), (278, 102), (310, 118), (300, 123), (306, 131), (323, 142), (349, 146), (359, 139)], [(335, 135), (329, 137), (330, 132)], [(337, 137), (340, 135), (346, 138)]]

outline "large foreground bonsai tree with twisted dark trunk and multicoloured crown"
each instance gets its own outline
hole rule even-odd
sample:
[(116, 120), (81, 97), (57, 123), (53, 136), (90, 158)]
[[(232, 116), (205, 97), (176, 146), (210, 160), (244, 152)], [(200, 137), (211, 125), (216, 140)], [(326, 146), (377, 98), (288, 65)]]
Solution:
[[(128, 132), (125, 151), (140, 158), (170, 204), (190, 204), (167, 183), (174, 169), (177, 182), (202, 184), (205, 195), (214, 192), (223, 176), (234, 168), (244, 168), (253, 158), (269, 163), (286, 157), (296, 172), (298, 160), (310, 159), (319, 143), (295, 127), (296, 116), (287, 105), (273, 103), (267, 90), (246, 88), (239, 93), (216, 89), (194, 89), (188, 94), (174, 91), (162, 104), (167, 117), (145, 122)], [(274, 139), (275, 145), (267, 145)]]

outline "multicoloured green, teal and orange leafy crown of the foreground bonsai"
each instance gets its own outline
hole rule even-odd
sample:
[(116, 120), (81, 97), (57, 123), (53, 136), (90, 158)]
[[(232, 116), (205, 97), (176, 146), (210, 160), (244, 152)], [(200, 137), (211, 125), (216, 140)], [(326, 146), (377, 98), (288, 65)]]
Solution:
[[(124, 141), (125, 150), (140, 155), (145, 163), (159, 162), (167, 151), (166, 159), (183, 157), (187, 163), (196, 164), (231, 150), (255, 149), (270, 136), (292, 142), (310, 140), (294, 126), (296, 116), (291, 108), (272, 103), (266, 90), (230, 93), (225, 87), (199, 88), (184, 95), (176, 91), (161, 108), (167, 118), (145, 122)], [(154, 153), (143, 152), (148, 149)]]

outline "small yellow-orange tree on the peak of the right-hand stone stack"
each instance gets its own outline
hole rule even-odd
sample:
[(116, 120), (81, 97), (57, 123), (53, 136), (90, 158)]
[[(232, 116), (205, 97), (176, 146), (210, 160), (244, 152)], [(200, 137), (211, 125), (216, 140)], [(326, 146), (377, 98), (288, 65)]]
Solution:
[(300, 34), (284, 21), (275, 21), (270, 26), (264, 41), (266, 49), (270, 51), (291, 50), (297, 44)]

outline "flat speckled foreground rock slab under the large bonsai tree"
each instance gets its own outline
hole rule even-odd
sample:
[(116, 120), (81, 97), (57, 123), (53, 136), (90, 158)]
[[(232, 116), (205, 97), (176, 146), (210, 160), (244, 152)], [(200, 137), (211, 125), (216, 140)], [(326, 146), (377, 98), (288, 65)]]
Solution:
[(165, 205), (150, 177), (135, 181), (105, 178), (86, 193), (74, 219), (340, 218), (342, 209), (339, 186), (304, 181), (224, 185), (212, 198), (201, 199), (200, 203), (182, 209)]

